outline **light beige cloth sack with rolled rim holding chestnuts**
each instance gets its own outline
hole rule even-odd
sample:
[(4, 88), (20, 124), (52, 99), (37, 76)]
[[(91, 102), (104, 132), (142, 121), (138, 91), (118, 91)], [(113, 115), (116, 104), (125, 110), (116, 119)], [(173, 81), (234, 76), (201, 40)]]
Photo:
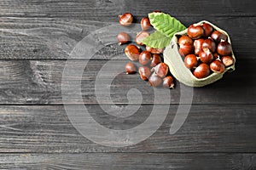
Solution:
[[(202, 20), (201, 22), (198, 22), (195, 25), (201, 26), (203, 23), (207, 23), (211, 25), (214, 30), (223, 32), (228, 37), (227, 42), (230, 42), (230, 36), (226, 31), (221, 30), (220, 28), (218, 28), (218, 26), (214, 26), (212, 23), (208, 22), (207, 20)], [(208, 84), (211, 84), (212, 82), (218, 81), (224, 76), (224, 73), (226, 73), (227, 71), (229, 72), (235, 71), (236, 58), (232, 51), (231, 56), (234, 59), (234, 64), (230, 65), (229, 67), (226, 67), (223, 73), (212, 72), (208, 77), (201, 78), (201, 79), (196, 78), (193, 75), (193, 73), (184, 65), (183, 57), (178, 53), (178, 45), (177, 45), (178, 37), (187, 35), (187, 31), (188, 29), (177, 32), (172, 37), (172, 42), (168, 47), (166, 47), (163, 53), (165, 63), (169, 66), (169, 69), (173, 77), (175, 77), (177, 81), (182, 82), (183, 84), (189, 87), (203, 87)]]

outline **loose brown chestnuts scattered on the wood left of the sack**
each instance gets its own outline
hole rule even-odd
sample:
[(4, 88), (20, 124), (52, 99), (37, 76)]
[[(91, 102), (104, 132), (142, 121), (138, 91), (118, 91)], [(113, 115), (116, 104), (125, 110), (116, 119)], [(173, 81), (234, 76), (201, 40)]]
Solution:
[[(119, 24), (121, 26), (131, 26), (132, 22), (133, 16), (130, 13), (125, 13), (119, 16)], [(125, 65), (126, 74), (134, 74), (138, 71), (140, 77), (144, 81), (148, 81), (150, 86), (174, 88), (174, 81), (168, 65), (162, 62), (162, 53), (164, 49), (145, 47), (145, 50), (142, 50), (144, 46), (142, 41), (150, 35), (148, 30), (152, 27), (148, 17), (144, 17), (141, 20), (141, 27), (142, 31), (139, 32), (135, 38), (137, 44), (128, 44), (125, 47), (125, 55), (131, 59), (131, 62), (128, 62)], [(117, 39), (119, 45), (131, 42), (131, 37), (125, 32), (120, 32)], [(139, 61), (140, 63), (139, 68), (133, 63), (136, 61)]]

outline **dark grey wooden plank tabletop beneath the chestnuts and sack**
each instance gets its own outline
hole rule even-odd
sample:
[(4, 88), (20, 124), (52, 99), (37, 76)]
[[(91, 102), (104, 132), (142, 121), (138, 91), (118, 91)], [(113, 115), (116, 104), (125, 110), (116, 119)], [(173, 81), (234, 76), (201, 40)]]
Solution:
[[(254, 0), (2, 0), (0, 168), (256, 169), (255, 4)], [(119, 14), (131, 12), (139, 23), (156, 9), (172, 14), (185, 26), (208, 20), (228, 31), (237, 59), (235, 72), (205, 88), (193, 89), (189, 116), (173, 135), (169, 130), (184, 88), (180, 83), (170, 91), (170, 101), (154, 101), (154, 89), (147, 82), (137, 74), (120, 73), (110, 88), (113, 103), (103, 103), (125, 107), (127, 92), (137, 88), (143, 94), (142, 105), (126, 118), (104, 113), (95, 92), (97, 73), (103, 65), (108, 61), (113, 66), (125, 65), (128, 61), (123, 47), (108, 42), (114, 34), (95, 31), (117, 24)], [(74, 73), (89, 61), (81, 81), (83, 101), (71, 97), (63, 102), (61, 77), (66, 61), (90, 34), (96, 35), (95, 42), (102, 42), (103, 48), (92, 57), (73, 59)], [(70, 81), (78, 78), (74, 74)], [(104, 90), (99, 93), (107, 94)], [(147, 119), (154, 105), (170, 108), (163, 124), (148, 139), (110, 147), (90, 141), (73, 127), (64, 105), (81, 104), (96, 122), (112, 129), (136, 127)]]

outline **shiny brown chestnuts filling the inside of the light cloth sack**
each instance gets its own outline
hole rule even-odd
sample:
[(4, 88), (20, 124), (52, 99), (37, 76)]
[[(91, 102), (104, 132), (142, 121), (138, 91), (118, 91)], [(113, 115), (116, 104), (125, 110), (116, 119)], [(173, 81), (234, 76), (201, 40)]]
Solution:
[(187, 35), (178, 37), (178, 52), (196, 78), (205, 78), (212, 72), (223, 73), (225, 67), (234, 64), (227, 39), (227, 35), (207, 23), (191, 25)]

